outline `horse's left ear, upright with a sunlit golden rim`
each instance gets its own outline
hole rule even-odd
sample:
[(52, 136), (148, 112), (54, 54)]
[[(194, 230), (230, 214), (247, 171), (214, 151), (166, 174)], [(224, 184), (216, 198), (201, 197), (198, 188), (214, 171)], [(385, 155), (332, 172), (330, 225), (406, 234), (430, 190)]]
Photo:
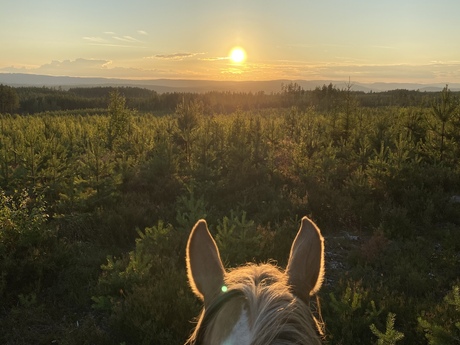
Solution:
[(205, 305), (214, 299), (224, 284), (225, 270), (219, 249), (204, 219), (199, 220), (187, 243), (187, 275), (193, 292)]

